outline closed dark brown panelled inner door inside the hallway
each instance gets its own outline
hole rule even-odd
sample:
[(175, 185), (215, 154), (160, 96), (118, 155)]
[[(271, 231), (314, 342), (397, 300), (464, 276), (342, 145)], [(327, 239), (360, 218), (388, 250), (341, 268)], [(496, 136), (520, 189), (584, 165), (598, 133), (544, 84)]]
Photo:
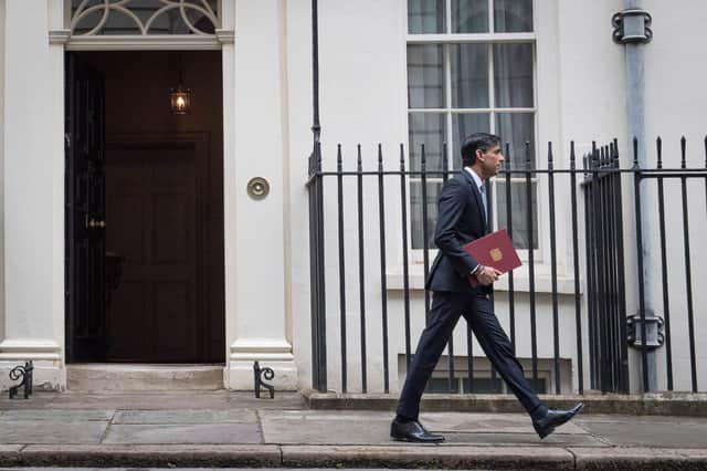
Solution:
[(108, 360), (199, 362), (204, 338), (194, 145), (107, 150), (107, 251), (123, 258), (108, 305)]

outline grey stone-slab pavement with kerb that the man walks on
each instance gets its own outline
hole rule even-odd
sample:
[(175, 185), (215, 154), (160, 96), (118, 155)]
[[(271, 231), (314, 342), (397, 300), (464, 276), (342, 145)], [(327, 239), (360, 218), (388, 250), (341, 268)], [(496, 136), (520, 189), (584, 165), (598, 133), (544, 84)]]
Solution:
[(0, 398), (0, 467), (705, 469), (707, 418), (582, 414), (540, 440), (527, 416), (429, 411), (442, 444), (391, 441), (392, 411), (298, 394), (36, 393)]

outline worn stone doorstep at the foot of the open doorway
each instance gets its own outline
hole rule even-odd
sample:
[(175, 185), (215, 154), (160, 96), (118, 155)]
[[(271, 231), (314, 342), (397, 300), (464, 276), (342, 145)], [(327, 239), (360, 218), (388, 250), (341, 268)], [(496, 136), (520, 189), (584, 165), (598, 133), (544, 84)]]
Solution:
[(223, 365), (75, 364), (66, 366), (71, 391), (223, 389)]

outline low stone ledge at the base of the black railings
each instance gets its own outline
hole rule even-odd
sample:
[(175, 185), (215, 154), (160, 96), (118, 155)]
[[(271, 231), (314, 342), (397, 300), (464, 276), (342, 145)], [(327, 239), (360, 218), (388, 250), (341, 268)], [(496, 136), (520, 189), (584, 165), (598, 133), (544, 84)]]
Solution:
[[(387, 410), (393, 411), (397, 395), (338, 394), (305, 390), (302, 393), (310, 409)], [(582, 414), (622, 414), (635, 416), (707, 417), (707, 394), (665, 393), (646, 395), (541, 395), (550, 407), (567, 408), (584, 402)], [(425, 395), (421, 410), (425, 412), (523, 412), (510, 395)]]

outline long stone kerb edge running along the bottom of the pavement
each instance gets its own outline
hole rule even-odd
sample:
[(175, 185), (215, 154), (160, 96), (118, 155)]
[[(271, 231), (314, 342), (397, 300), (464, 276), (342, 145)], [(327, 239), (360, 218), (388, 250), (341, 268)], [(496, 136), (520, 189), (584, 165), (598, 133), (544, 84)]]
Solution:
[(0, 465), (707, 470), (707, 450), (462, 446), (3, 446)]

